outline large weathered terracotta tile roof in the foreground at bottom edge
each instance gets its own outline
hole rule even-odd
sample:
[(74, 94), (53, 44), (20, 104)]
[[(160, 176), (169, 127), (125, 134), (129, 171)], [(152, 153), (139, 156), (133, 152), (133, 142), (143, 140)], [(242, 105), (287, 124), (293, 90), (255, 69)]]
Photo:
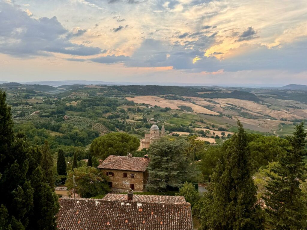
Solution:
[[(134, 195), (135, 197), (136, 195)], [(58, 230), (192, 230), (191, 205), (187, 202), (160, 203), (150, 195), (133, 201), (106, 199), (60, 198), (57, 213)], [(164, 196), (161, 196), (164, 197)], [(168, 198), (162, 198), (167, 201)], [(182, 198), (179, 198), (182, 200)], [(184, 198), (183, 198), (184, 199)], [(148, 200), (148, 201), (147, 201)], [(154, 200), (157, 202), (150, 202)]]

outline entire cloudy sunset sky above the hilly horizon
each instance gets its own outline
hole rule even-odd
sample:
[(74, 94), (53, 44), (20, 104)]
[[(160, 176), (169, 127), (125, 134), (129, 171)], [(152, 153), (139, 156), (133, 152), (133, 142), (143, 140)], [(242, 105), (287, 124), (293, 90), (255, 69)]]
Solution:
[(306, 0), (0, 0), (0, 81), (307, 84)]

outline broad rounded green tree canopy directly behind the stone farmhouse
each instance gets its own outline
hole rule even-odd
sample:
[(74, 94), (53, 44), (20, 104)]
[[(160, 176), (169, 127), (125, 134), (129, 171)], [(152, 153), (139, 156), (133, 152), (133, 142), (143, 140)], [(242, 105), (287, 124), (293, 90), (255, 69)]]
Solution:
[(125, 156), (127, 152), (136, 151), (140, 140), (124, 132), (112, 132), (96, 138), (90, 147), (92, 156), (106, 159), (109, 155)]

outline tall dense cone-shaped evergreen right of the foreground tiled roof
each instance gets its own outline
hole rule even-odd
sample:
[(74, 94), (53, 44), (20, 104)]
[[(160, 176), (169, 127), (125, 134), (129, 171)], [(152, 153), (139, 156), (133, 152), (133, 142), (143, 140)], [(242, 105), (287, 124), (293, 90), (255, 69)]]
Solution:
[(200, 207), (203, 229), (263, 229), (263, 214), (256, 204), (256, 186), (251, 177), (247, 134), (239, 121), (237, 124), (239, 131), (224, 144), (223, 159), (214, 169)]

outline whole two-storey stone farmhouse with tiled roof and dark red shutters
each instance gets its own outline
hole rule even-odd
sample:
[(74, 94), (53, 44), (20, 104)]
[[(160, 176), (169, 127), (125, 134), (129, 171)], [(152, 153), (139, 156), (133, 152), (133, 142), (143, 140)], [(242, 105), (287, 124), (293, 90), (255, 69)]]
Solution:
[(109, 177), (109, 186), (113, 189), (126, 191), (132, 189), (138, 192), (145, 191), (148, 180), (147, 166), (150, 159), (144, 157), (114, 156), (110, 155), (107, 159), (99, 160), (97, 167)]

